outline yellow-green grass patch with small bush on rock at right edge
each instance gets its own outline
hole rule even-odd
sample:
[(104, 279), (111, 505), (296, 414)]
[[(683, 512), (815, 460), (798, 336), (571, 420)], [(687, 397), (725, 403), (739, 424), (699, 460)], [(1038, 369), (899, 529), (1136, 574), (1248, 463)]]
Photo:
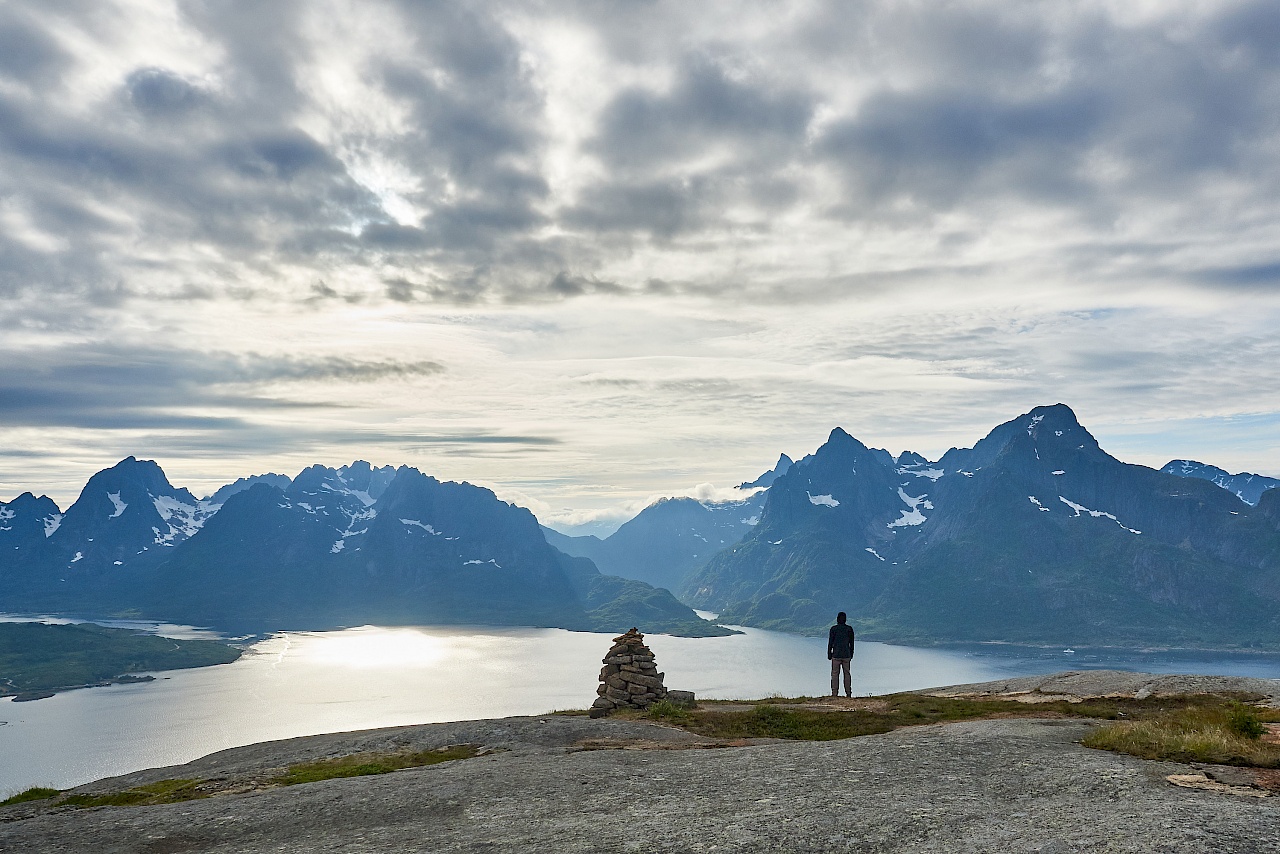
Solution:
[(1105, 726), (1083, 744), (1143, 759), (1280, 768), (1280, 744), (1261, 739), (1266, 732), (1263, 718), (1280, 720), (1280, 712), (1240, 703), (1192, 705), (1151, 720)]

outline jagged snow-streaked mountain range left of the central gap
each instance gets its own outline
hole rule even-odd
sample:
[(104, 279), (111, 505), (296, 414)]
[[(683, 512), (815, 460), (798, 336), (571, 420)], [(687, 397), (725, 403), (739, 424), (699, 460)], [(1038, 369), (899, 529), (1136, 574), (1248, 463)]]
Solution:
[(200, 502), (155, 462), (129, 457), (91, 478), (64, 515), (29, 494), (0, 506), (0, 544), (12, 543), (0, 554), (0, 609), (236, 631), (362, 622), (727, 631), (667, 590), (552, 548), (527, 510), (416, 469), (311, 466), (219, 493), (225, 502)]

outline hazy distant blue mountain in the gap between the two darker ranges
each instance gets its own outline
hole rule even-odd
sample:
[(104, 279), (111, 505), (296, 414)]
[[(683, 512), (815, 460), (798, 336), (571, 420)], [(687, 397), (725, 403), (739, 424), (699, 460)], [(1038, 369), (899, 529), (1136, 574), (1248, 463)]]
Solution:
[(543, 534), (566, 554), (591, 560), (602, 572), (678, 590), (690, 572), (741, 540), (759, 521), (763, 506), (763, 492), (728, 502), (663, 498), (603, 540), (549, 528)]

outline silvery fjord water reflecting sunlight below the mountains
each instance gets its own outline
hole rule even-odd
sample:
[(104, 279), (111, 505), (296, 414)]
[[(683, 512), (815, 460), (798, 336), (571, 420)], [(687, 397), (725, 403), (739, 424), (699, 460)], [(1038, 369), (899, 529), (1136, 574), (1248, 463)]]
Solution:
[[(131, 624), (132, 625), (132, 624)], [(141, 624), (140, 624), (141, 625)], [(155, 629), (155, 626), (150, 626)], [(191, 636), (189, 627), (159, 631)], [(237, 662), (156, 681), (0, 702), (0, 796), (67, 789), (224, 748), (317, 732), (584, 708), (611, 635), (559, 629), (364, 626), (289, 632)], [(648, 641), (668, 688), (716, 699), (824, 694), (826, 639), (755, 629)], [(854, 691), (886, 694), (1060, 670), (1280, 676), (1280, 657), (1076, 653), (859, 643)]]

